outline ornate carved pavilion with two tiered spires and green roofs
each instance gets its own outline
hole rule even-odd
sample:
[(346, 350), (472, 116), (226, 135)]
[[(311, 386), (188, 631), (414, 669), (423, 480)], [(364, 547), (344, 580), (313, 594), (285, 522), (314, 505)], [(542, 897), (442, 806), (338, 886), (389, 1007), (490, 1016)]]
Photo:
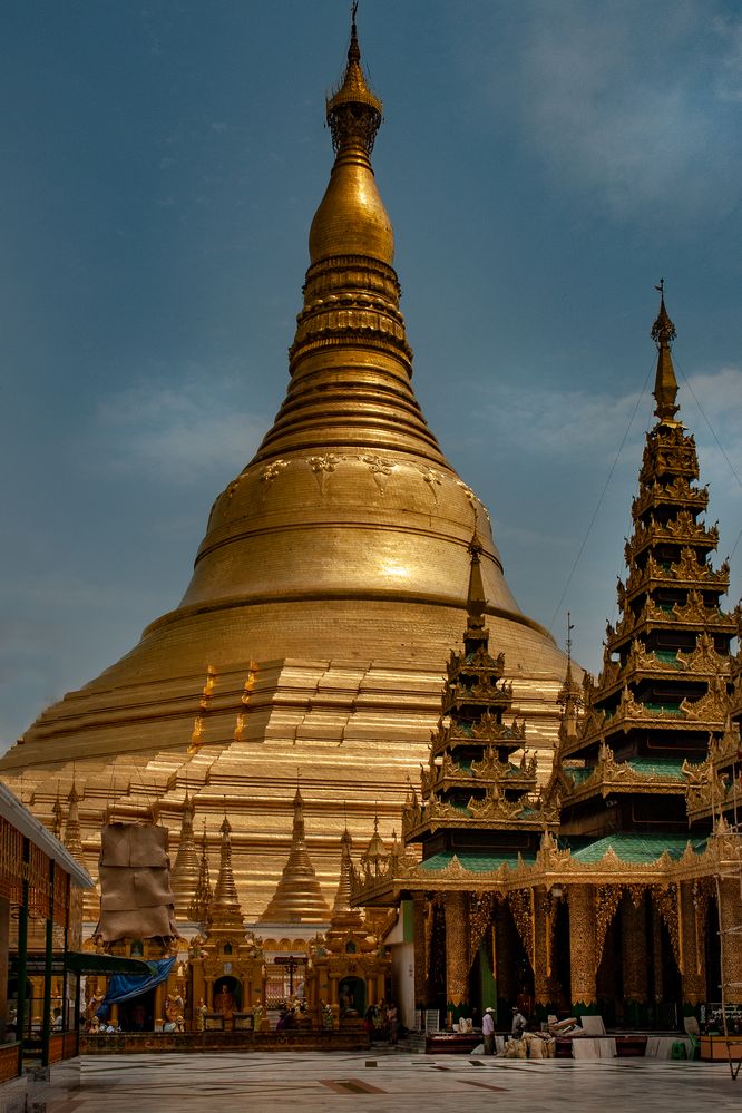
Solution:
[[(502, 660), (489, 654), (472, 546), (469, 624), (448, 666), (441, 719), (410, 790), (406, 849), (357, 876), (354, 899), (413, 909), (414, 1002), (452, 1018), (518, 1000), (673, 1026), (683, 1012), (742, 1003), (739, 623), (710, 563), (693, 437), (676, 420), (675, 335), (664, 297), (657, 421), (648, 432), (604, 666), (559, 694), (554, 770), (540, 798)], [(733, 686), (733, 677), (736, 677)], [(421, 842), (418, 861), (409, 852)], [(721, 916), (720, 954), (717, 918)]]

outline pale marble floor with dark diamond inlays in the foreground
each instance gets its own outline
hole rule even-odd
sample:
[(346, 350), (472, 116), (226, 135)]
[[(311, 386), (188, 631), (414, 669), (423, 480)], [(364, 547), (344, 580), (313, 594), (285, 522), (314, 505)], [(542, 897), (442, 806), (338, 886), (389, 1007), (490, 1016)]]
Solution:
[[(89, 1056), (52, 1068), (31, 1101), (46, 1113), (412, 1110), (611, 1113), (742, 1107), (742, 1074), (721, 1063), (643, 1058), (543, 1062), (409, 1052)], [(29, 1107), (31, 1102), (29, 1102)]]

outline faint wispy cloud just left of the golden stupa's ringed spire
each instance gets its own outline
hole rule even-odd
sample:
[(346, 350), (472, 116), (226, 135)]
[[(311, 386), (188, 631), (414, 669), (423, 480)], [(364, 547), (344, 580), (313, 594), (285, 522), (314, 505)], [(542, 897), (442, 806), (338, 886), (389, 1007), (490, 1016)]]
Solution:
[(177, 382), (136, 382), (104, 399), (95, 413), (92, 436), (105, 445), (101, 466), (172, 484), (237, 472), (267, 427), (264, 414), (244, 409), (244, 381), (208, 368), (192, 368)]

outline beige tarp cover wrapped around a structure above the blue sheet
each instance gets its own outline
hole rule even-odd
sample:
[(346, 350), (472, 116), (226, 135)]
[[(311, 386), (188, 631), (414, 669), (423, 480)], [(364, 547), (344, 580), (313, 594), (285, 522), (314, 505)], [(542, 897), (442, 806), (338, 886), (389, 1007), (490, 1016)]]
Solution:
[(167, 831), (164, 827), (107, 823), (100, 843), (102, 943), (177, 935)]

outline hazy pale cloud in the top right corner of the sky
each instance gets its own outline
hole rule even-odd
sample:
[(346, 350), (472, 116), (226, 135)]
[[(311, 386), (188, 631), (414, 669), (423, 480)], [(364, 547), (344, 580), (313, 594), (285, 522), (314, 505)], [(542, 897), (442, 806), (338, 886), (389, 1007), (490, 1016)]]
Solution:
[(709, 0), (572, 0), (531, 6), (520, 30), (494, 104), (559, 187), (662, 224), (734, 206), (742, 18)]

